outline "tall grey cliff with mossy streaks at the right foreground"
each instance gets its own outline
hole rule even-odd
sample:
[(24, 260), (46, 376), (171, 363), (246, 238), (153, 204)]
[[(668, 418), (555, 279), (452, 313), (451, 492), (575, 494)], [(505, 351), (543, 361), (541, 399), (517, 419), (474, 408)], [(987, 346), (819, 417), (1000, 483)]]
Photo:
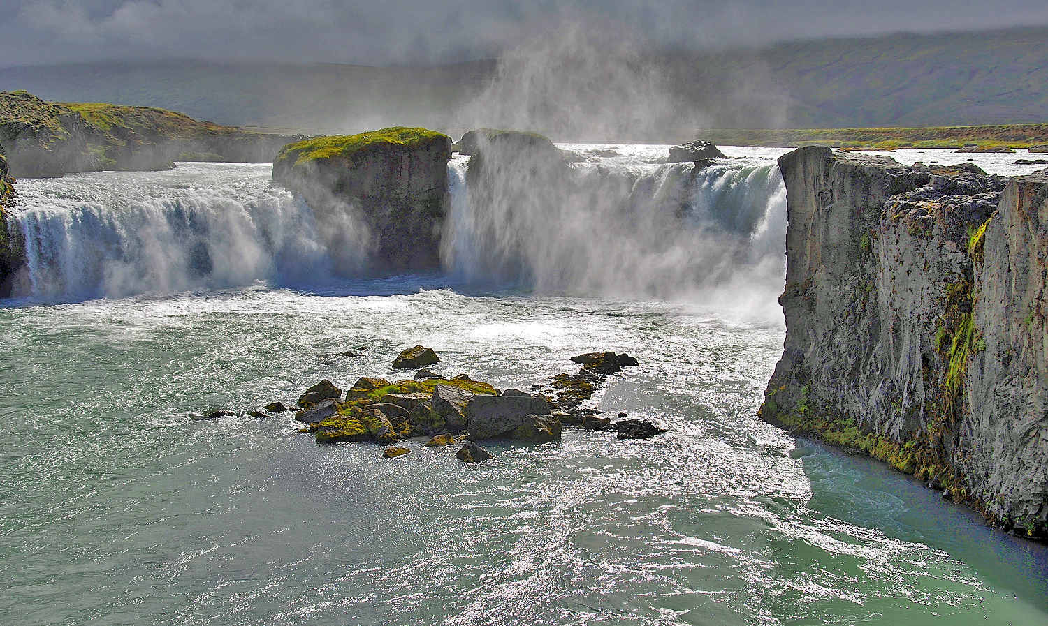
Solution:
[(804, 148), (761, 416), (1048, 536), (1048, 176)]

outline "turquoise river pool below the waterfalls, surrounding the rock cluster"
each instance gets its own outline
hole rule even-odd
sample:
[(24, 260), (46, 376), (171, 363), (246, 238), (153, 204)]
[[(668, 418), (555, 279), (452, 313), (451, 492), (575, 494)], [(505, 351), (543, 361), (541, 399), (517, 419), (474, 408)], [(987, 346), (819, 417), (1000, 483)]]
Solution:
[[(0, 310), (0, 613), (24, 625), (1048, 621), (1043, 547), (755, 417), (779, 325), (432, 287)], [(351, 294), (368, 290), (384, 295)], [(569, 371), (580, 352), (635, 354), (640, 366), (609, 379), (598, 406), (670, 432), (569, 430), (465, 466), (419, 442), (392, 461), (377, 445), (319, 447), (289, 418), (188, 417), (287, 401), (323, 376), (393, 376), (415, 342), (443, 372), (501, 387)], [(793, 460), (794, 445), (811, 453)]]

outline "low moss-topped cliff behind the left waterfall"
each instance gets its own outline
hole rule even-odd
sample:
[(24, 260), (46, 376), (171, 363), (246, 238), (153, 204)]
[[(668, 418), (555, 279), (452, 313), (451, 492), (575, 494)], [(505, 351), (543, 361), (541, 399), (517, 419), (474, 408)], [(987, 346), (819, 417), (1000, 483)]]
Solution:
[(148, 107), (48, 103), (25, 91), (0, 92), (0, 142), (16, 177), (101, 170), (165, 170), (192, 154), (268, 162), (300, 136), (261, 134), (201, 122)]

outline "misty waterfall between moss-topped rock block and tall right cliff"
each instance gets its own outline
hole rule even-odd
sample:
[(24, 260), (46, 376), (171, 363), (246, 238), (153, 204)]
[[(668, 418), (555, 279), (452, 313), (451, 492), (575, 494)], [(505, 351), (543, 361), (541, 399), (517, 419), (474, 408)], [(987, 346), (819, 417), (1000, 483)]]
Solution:
[(627, 148), (583, 150), (584, 160), (553, 169), (486, 165), (483, 176), (457, 157), (445, 267), (473, 282), (590, 295), (782, 289), (778, 165), (743, 160), (696, 173), (692, 163), (631, 158)]

